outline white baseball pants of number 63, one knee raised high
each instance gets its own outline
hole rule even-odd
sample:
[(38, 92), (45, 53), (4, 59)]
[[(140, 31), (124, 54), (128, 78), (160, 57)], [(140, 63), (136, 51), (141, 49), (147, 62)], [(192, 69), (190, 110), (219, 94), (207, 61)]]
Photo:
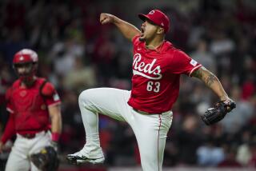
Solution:
[[(134, 131), (144, 171), (162, 171), (166, 134), (170, 129), (173, 113), (146, 115), (136, 112), (127, 101), (130, 91), (113, 88), (84, 90), (78, 99), (86, 129), (86, 150), (94, 153), (100, 147), (98, 113), (126, 121)], [(97, 154), (96, 154), (97, 155)]]

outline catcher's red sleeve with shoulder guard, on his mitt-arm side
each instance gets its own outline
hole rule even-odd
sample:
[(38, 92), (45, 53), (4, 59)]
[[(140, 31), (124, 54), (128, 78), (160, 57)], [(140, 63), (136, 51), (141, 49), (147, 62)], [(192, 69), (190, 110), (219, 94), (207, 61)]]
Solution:
[(58, 105), (61, 103), (60, 97), (58, 96), (54, 85), (52, 85), (50, 82), (46, 82), (46, 84), (42, 87), (42, 96), (44, 97), (47, 106)]

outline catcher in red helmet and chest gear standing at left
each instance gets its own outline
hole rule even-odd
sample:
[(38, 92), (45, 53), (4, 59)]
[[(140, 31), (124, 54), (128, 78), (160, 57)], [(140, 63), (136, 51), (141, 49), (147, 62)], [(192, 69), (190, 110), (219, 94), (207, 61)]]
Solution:
[(38, 54), (33, 50), (18, 51), (13, 63), (18, 80), (6, 92), (10, 117), (0, 141), (0, 153), (7, 140), (14, 134), (17, 138), (6, 171), (55, 170), (58, 168), (57, 142), (62, 129), (58, 93), (46, 79), (36, 77)]

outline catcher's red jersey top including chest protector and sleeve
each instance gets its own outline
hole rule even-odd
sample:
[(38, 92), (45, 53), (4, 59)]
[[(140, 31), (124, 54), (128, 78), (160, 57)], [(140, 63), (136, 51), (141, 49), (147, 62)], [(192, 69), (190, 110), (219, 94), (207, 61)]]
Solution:
[(14, 127), (17, 133), (37, 133), (49, 129), (50, 116), (48, 106), (60, 103), (58, 93), (50, 82), (43, 86), (46, 95), (41, 94), (44, 78), (37, 78), (29, 88), (21, 87), (21, 81), (17, 80), (7, 90), (7, 110), (14, 117)]

